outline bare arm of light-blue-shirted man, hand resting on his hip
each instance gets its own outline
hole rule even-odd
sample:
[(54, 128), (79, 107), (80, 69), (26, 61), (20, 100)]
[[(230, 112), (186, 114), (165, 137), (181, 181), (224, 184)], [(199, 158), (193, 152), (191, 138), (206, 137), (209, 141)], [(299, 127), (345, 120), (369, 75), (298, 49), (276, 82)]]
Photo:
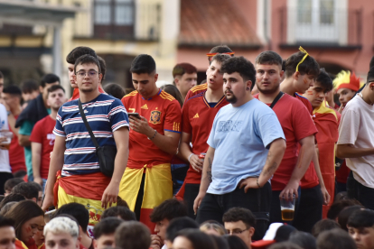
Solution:
[[(276, 169), (278, 169), (284, 154), (285, 140), (283, 138), (278, 138), (271, 143), (269, 152), (267, 153), (264, 169), (261, 171), (261, 174), (258, 177), (258, 185), (260, 187), (263, 187), (276, 172)], [(249, 177), (248, 179), (240, 182), (239, 188), (241, 189), (244, 187), (244, 191), (247, 193), (248, 189), (258, 189), (258, 185), (257, 178)]]

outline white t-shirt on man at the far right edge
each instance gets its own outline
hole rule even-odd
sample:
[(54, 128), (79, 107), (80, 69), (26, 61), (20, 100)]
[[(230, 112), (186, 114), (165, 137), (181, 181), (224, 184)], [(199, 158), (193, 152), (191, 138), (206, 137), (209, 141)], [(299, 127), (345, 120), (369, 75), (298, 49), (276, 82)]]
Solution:
[[(352, 144), (356, 148), (374, 148), (374, 106), (357, 95), (348, 102), (341, 115), (338, 144)], [(353, 177), (363, 186), (374, 189), (374, 154), (347, 158)]]

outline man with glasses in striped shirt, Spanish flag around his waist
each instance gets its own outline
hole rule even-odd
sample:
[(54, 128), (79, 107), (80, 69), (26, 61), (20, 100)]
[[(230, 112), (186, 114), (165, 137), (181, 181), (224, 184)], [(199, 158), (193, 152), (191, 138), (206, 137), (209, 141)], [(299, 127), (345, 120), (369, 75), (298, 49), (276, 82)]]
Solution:
[(89, 209), (89, 224), (96, 224), (105, 208), (117, 202), (119, 182), (128, 157), (128, 116), (125, 107), (114, 97), (101, 94), (98, 83), (102, 77), (98, 59), (91, 55), (79, 57), (74, 66), (79, 88), (79, 100), (98, 145), (117, 146), (113, 176), (101, 171), (96, 148), (79, 113), (79, 100), (61, 106), (53, 134), (56, 135), (51, 155), (48, 181), (56, 180), (61, 171), (58, 191), (47, 184), (42, 208), (59, 208), (77, 202)]

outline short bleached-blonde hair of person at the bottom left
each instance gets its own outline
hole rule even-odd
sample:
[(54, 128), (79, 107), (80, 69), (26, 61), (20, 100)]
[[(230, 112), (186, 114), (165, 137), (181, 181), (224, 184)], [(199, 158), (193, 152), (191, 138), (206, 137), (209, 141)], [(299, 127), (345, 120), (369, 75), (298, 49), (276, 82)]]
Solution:
[(66, 233), (74, 238), (78, 238), (79, 227), (77, 222), (69, 217), (55, 217), (44, 226), (43, 235), (46, 236), (48, 232), (53, 234)]

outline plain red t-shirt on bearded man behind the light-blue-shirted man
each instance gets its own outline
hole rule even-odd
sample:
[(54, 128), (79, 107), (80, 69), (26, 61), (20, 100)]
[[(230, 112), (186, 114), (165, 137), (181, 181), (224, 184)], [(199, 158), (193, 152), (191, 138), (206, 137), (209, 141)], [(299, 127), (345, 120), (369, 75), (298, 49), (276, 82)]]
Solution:
[[(254, 97), (258, 99), (258, 94)], [(271, 103), (266, 105), (270, 106)], [(295, 97), (285, 94), (273, 107), (273, 111), (282, 125), (286, 149), (285, 155), (271, 180), (271, 189), (283, 190), (295, 170), (299, 141), (316, 134), (317, 129), (308, 110)]]

